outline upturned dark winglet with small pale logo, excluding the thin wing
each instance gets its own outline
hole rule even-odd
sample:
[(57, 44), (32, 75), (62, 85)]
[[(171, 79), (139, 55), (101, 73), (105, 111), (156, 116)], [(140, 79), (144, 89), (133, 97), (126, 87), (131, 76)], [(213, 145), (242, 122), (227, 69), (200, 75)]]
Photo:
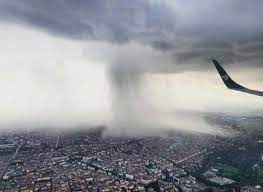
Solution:
[(243, 89), (244, 87), (237, 84), (235, 81), (231, 79), (231, 77), (227, 74), (227, 72), (224, 70), (224, 68), (218, 63), (217, 60), (212, 59), (219, 75), (221, 76), (223, 82), (229, 89), (235, 89), (235, 90), (240, 90)]

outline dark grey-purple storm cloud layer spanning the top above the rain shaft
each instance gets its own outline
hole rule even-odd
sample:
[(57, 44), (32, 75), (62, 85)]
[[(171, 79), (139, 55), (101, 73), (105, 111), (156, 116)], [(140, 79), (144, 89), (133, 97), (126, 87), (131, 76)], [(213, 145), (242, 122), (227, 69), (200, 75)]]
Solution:
[(137, 41), (202, 69), (212, 57), (263, 63), (262, 8), (262, 0), (0, 0), (0, 18), (69, 38)]

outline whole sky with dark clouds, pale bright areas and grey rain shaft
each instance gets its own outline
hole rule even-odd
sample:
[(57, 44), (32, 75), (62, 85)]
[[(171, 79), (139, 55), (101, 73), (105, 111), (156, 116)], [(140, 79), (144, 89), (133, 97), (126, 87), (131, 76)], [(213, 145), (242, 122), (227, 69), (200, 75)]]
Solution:
[(215, 132), (181, 111), (263, 108), (262, 98), (227, 90), (211, 63), (263, 90), (262, 8), (261, 0), (0, 0), (1, 128)]

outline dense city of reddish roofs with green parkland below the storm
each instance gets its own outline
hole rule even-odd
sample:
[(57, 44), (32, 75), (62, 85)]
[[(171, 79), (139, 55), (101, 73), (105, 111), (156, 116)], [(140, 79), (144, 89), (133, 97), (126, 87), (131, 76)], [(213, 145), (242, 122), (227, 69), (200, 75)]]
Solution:
[(228, 134), (6, 131), (0, 191), (262, 191), (263, 118), (204, 117)]

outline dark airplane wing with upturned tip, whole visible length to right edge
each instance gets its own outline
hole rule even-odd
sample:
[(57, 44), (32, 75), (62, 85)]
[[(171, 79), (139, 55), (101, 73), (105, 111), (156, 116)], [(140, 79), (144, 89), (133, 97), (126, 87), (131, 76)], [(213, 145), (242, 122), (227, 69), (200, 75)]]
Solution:
[(227, 74), (227, 72), (224, 70), (224, 68), (218, 63), (217, 60), (213, 59), (212, 60), (218, 73), (220, 74), (223, 82), (225, 83), (226, 87), (235, 91), (241, 91), (245, 92), (248, 94), (253, 94), (253, 95), (258, 95), (263, 97), (263, 92), (262, 91), (257, 91), (257, 90), (252, 90), (248, 89), (246, 87), (243, 87), (242, 85), (239, 85), (235, 81), (231, 79), (231, 77)]

